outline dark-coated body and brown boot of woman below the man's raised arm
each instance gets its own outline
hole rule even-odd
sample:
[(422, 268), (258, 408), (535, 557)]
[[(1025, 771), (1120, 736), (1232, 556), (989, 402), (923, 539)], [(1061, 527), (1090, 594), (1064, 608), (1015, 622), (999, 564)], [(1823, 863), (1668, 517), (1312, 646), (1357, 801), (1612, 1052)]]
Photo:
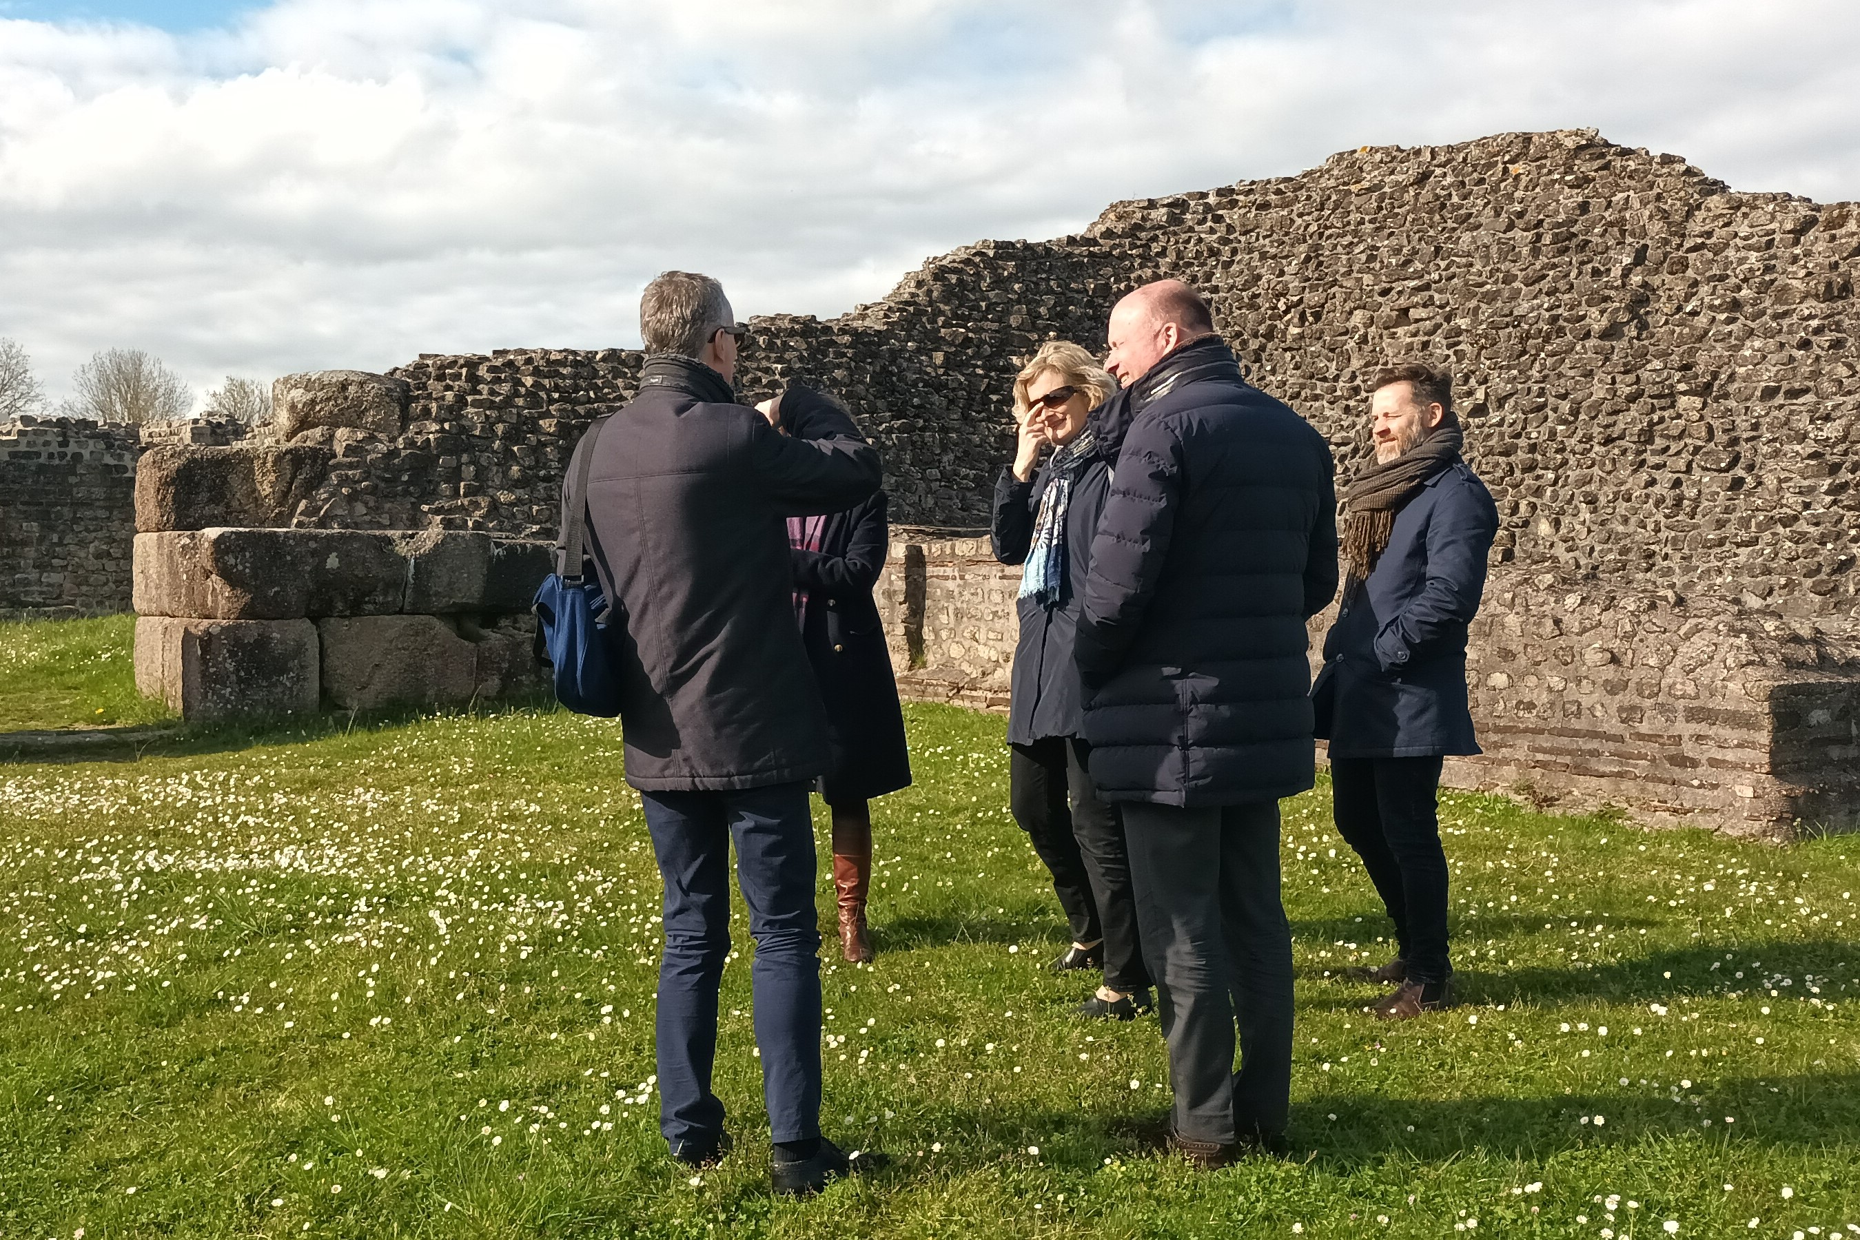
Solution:
[(833, 768), (820, 796), (833, 812), (833, 887), (839, 950), (872, 959), (865, 900), (872, 887), (872, 812), (867, 801), (911, 783), (898, 682), (872, 602), (891, 528), (885, 493), (828, 517), (789, 519), (794, 615), (820, 697), (826, 701)]

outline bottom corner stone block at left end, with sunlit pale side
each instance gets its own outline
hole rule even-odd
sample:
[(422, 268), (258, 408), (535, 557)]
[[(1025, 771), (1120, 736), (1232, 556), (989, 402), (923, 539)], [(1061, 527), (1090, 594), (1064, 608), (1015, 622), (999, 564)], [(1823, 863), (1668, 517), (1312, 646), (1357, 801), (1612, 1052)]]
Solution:
[(190, 723), (316, 710), (316, 627), (143, 615), (136, 688)]

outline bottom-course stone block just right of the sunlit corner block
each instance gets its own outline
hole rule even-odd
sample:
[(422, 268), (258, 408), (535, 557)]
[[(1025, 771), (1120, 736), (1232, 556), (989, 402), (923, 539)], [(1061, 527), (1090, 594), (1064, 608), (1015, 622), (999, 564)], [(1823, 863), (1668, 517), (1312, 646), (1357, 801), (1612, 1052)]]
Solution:
[(324, 693), (344, 710), (469, 703), (478, 653), (437, 615), (359, 615), (318, 621)]

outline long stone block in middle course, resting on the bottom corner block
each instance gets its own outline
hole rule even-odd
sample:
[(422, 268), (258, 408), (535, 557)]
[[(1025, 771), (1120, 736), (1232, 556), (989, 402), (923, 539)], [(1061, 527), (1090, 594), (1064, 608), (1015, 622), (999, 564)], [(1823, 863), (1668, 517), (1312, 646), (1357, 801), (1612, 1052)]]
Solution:
[(136, 612), (298, 619), (400, 612), (407, 561), (363, 530), (177, 530), (136, 535)]

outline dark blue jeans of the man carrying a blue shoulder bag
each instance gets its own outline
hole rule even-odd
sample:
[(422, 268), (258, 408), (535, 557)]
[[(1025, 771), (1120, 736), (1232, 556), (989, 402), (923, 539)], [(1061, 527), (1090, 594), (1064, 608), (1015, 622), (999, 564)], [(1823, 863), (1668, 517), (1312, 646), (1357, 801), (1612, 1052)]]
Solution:
[(820, 918), (805, 783), (742, 792), (644, 792), (666, 879), (658, 965), (658, 1130), (671, 1151), (707, 1149), (724, 1130), (711, 1093), (716, 991), (729, 956), (729, 842), (750, 905), (755, 1045), (776, 1141), (820, 1136)]

